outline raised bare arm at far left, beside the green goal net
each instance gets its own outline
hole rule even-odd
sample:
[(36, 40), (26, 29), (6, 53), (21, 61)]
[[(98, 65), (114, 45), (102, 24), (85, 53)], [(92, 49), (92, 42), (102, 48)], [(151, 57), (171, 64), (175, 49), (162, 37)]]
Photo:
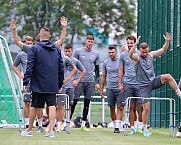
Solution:
[(21, 49), (23, 48), (24, 43), (21, 42), (17, 32), (16, 32), (16, 28), (17, 28), (18, 24), (16, 24), (15, 20), (11, 20), (11, 30), (12, 30), (12, 34), (13, 34), (13, 39), (14, 42), (16, 43), (16, 45), (18, 45)]

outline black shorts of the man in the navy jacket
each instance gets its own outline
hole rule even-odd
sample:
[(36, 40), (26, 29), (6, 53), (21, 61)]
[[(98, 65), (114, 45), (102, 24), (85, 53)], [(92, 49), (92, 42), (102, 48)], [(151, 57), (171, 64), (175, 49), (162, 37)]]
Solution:
[(55, 106), (56, 105), (56, 94), (42, 94), (32, 92), (32, 102), (31, 107), (35, 108), (44, 108), (45, 103), (47, 106)]

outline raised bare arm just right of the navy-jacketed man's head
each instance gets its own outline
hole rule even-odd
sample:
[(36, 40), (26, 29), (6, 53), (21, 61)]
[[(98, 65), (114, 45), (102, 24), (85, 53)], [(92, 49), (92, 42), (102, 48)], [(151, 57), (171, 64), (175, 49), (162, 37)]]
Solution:
[(66, 37), (66, 27), (67, 27), (67, 19), (65, 17), (61, 17), (60, 18), (60, 23), (62, 25), (62, 32), (60, 34), (60, 38), (59, 40), (57, 40), (55, 42), (55, 44), (60, 47), (60, 45), (62, 45), (62, 43), (65, 41), (65, 37)]

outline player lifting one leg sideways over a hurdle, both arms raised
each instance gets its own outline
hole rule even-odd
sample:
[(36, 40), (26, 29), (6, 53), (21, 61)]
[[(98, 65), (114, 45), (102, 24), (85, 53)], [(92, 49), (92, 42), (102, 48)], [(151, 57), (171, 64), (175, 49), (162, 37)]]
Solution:
[[(154, 89), (160, 88), (162, 85), (168, 82), (170, 87), (176, 92), (176, 95), (181, 97), (181, 91), (177, 86), (174, 78), (170, 74), (162, 74), (158, 77), (155, 77), (154, 69), (153, 69), (153, 58), (162, 55), (167, 51), (169, 42), (170, 42), (170, 34), (167, 32), (165, 38), (165, 44), (162, 48), (149, 52), (149, 46), (147, 43), (141, 43), (140, 45), (140, 55), (134, 54), (135, 48), (139, 43), (140, 36), (138, 37), (137, 42), (131, 48), (129, 55), (131, 59), (134, 60), (136, 65), (136, 76), (137, 81), (140, 86), (141, 97), (149, 98), (151, 97), (151, 92)], [(148, 112), (150, 108), (149, 100), (144, 100), (143, 104), (143, 128), (144, 128), (144, 136), (150, 136), (151, 134), (147, 130), (147, 122), (148, 122)]]

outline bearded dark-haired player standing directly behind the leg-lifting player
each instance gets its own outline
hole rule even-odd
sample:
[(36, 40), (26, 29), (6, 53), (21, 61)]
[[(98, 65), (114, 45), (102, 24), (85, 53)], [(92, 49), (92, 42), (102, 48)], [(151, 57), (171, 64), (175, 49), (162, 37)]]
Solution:
[[(129, 50), (133, 47), (136, 42), (136, 38), (130, 35), (126, 38), (128, 50), (124, 51), (120, 55), (119, 64), (119, 89), (124, 93), (125, 98), (128, 97), (140, 97), (140, 89), (136, 80), (135, 65), (134, 61), (129, 57)], [(134, 51), (135, 54), (139, 54), (138, 50)], [(137, 123), (136, 116), (136, 102), (138, 102), (139, 107), (139, 122)], [(137, 132), (142, 133), (142, 100), (141, 99), (131, 99), (130, 103), (130, 125), (131, 131), (129, 134), (134, 134)], [(137, 129), (137, 130), (136, 130)]]

